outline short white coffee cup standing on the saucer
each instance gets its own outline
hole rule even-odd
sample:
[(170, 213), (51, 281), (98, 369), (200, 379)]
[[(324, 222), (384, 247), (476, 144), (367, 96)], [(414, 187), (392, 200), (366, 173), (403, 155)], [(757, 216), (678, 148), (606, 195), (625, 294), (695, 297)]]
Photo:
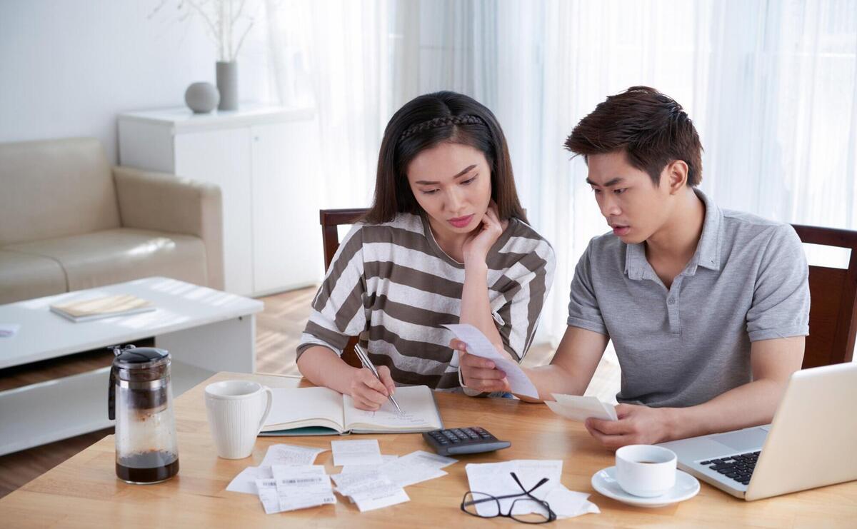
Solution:
[(616, 450), (616, 481), (634, 496), (661, 496), (675, 485), (675, 452), (650, 444)]

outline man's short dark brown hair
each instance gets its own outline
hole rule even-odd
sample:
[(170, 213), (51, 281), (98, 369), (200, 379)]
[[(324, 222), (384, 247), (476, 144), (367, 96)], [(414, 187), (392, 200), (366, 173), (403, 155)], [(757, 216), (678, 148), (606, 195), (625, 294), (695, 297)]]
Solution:
[(584, 117), (566, 140), (583, 155), (625, 152), (628, 163), (647, 172), (658, 186), (670, 162), (687, 163), (687, 185), (702, 181), (702, 144), (691, 118), (673, 98), (649, 86), (632, 86), (609, 96)]

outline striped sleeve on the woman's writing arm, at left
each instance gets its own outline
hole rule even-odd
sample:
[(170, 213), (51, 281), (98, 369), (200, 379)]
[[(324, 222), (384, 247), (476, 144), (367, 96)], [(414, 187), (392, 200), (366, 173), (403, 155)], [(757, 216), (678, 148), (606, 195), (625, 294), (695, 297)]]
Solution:
[(361, 224), (352, 227), (333, 256), (297, 346), (298, 358), (313, 346), (329, 348), (341, 356), (349, 338), (366, 327), (361, 228)]

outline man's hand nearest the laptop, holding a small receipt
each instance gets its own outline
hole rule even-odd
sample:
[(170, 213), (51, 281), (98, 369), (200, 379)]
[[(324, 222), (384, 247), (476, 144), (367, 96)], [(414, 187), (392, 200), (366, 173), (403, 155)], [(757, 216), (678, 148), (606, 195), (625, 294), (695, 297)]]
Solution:
[(586, 419), (586, 430), (608, 449), (626, 444), (656, 444), (670, 438), (669, 408), (620, 404), (619, 420)]

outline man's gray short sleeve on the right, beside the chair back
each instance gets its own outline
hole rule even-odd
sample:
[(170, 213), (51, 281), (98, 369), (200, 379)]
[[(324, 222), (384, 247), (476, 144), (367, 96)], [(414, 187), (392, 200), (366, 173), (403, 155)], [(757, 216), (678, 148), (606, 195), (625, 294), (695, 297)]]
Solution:
[(746, 314), (751, 342), (809, 334), (809, 267), (800, 238), (776, 226), (764, 248)]

